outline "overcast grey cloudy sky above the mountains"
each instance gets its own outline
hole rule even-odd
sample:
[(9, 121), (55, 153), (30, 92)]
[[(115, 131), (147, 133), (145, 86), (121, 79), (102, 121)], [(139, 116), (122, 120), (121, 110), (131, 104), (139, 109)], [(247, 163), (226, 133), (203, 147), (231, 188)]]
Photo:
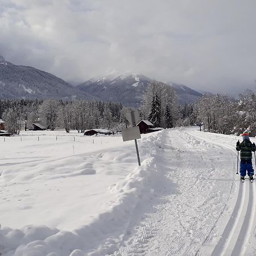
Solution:
[(66, 81), (131, 71), (256, 89), (255, 0), (0, 0), (0, 55)]

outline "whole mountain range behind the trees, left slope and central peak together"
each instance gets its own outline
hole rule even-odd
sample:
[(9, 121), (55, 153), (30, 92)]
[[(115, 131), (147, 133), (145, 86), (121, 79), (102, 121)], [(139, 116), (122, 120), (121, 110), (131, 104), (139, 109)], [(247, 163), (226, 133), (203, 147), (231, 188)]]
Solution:
[[(33, 67), (15, 65), (0, 56), (0, 99), (63, 99), (101, 100), (121, 102), (125, 106), (139, 108), (144, 90), (153, 81), (139, 73), (126, 72), (117, 75), (112, 72), (102, 77), (94, 77), (78, 86), (50, 73)], [(184, 85), (173, 86), (181, 103), (196, 101), (200, 93)]]

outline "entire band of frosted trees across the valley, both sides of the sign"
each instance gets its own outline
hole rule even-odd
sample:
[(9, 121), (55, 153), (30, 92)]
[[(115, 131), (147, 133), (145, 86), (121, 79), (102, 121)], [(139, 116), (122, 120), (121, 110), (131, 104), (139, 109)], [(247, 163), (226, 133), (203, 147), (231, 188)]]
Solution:
[[(111, 129), (114, 132), (129, 126), (125, 117), (130, 109), (120, 103), (63, 100), (0, 100), (0, 118), (7, 131), (19, 134), (21, 129), (41, 123), (47, 129), (77, 130)], [(203, 124), (204, 130), (242, 133), (249, 128), (256, 134), (256, 94), (247, 92), (239, 100), (221, 94), (205, 94), (193, 104), (180, 105), (174, 88), (162, 82), (151, 82), (143, 94), (139, 109), (141, 119), (154, 127), (172, 128)]]

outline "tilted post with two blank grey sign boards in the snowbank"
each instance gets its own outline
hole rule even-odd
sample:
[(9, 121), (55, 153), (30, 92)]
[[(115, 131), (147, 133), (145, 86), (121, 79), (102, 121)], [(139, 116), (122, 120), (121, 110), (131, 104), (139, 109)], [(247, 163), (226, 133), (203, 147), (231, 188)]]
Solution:
[(138, 164), (139, 166), (141, 166), (141, 159), (139, 159), (139, 149), (137, 144), (137, 139), (141, 138), (141, 133), (139, 131), (139, 127), (136, 126), (136, 123), (138, 123), (139, 121), (138, 110), (131, 110), (130, 112), (127, 112), (126, 118), (128, 119), (128, 121), (133, 127), (122, 130), (123, 141), (131, 141), (134, 139)]

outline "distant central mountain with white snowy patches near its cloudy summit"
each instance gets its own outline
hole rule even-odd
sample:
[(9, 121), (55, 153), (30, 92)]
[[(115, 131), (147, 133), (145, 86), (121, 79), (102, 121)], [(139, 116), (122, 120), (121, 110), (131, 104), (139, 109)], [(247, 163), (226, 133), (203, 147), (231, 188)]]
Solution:
[[(117, 77), (93, 78), (77, 85), (77, 88), (100, 98), (102, 101), (122, 102), (123, 105), (138, 108), (142, 102), (143, 92), (151, 81), (154, 80), (142, 74), (124, 73)], [(198, 97), (202, 96), (199, 92), (185, 85), (177, 85), (172, 82), (167, 84), (174, 87), (182, 104), (195, 102)]]

